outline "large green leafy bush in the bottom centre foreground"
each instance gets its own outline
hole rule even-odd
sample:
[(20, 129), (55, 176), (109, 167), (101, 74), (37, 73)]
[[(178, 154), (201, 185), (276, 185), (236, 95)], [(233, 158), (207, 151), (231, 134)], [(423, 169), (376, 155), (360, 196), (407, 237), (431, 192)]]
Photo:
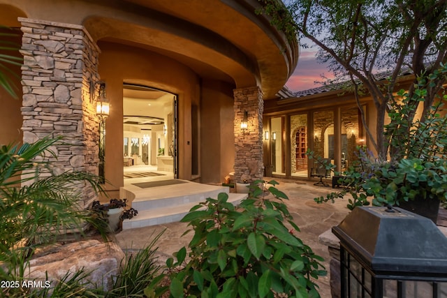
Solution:
[[(166, 262), (170, 297), (319, 297), (314, 279), (326, 273), (323, 259), (295, 235), (286, 194), (268, 184), (254, 181), (238, 207), (219, 193), (184, 216), (194, 235), (188, 255), (183, 247)], [(145, 294), (156, 297), (155, 290), (153, 283)]]

